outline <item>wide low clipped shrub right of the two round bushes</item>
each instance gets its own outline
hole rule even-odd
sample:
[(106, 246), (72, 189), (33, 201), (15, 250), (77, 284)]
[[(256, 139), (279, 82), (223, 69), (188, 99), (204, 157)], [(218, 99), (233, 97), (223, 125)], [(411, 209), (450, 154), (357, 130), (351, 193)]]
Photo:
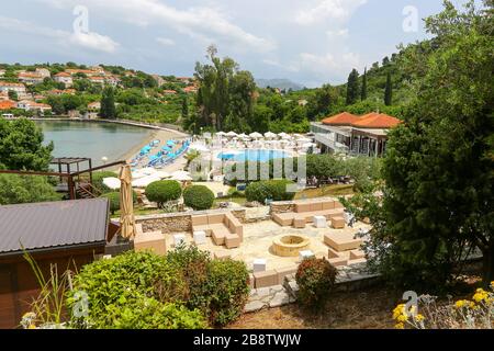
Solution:
[(257, 201), (259, 203), (265, 203), (266, 199), (273, 201), (289, 201), (293, 200), (295, 193), (287, 192), (287, 186), (294, 184), (290, 180), (267, 180), (250, 183), (245, 190), (245, 195), (247, 201)]

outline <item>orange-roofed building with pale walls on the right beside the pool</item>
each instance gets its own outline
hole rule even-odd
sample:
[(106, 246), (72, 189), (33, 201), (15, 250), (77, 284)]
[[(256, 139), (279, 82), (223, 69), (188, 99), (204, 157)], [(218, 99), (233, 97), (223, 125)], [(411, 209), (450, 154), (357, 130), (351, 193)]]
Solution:
[(388, 132), (400, 123), (398, 118), (383, 113), (357, 116), (344, 112), (311, 123), (311, 132), (322, 152), (379, 157), (385, 154)]

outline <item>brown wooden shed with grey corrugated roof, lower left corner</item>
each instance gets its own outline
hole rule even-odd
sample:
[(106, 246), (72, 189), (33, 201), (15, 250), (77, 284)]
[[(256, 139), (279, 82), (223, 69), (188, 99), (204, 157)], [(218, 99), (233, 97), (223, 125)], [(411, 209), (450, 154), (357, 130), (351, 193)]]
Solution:
[(15, 328), (40, 286), (24, 259), (30, 253), (49, 276), (104, 253), (117, 228), (109, 220), (106, 199), (0, 206), (0, 328)]

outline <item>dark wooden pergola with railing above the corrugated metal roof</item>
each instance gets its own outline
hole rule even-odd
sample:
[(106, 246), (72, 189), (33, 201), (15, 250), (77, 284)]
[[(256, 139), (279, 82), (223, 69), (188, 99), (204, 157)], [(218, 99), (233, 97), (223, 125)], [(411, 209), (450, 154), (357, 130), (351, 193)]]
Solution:
[[(81, 169), (80, 165), (82, 162), (88, 162), (89, 168)], [(54, 158), (50, 165), (56, 165), (58, 168), (58, 172), (43, 172), (43, 171), (18, 171), (18, 170), (0, 170), (0, 174), (18, 174), (18, 176), (43, 176), (43, 177), (57, 177), (60, 179), (60, 182), (64, 179), (67, 180), (66, 189), (57, 189), (61, 192), (67, 192), (70, 200), (76, 200), (77, 194), (79, 193), (79, 197), (97, 197), (96, 189), (92, 185), (92, 172), (99, 171), (105, 168), (125, 165), (125, 161), (116, 161), (112, 163), (108, 163), (104, 166), (92, 167), (92, 161), (90, 158), (83, 157), (59, 157)], [(74, 165), (76, 169), (72, 169)], [(88, 180), (81, 180), (82, 174), (89, 174)], [(83, 195), (83, 196), (81, 196)]]

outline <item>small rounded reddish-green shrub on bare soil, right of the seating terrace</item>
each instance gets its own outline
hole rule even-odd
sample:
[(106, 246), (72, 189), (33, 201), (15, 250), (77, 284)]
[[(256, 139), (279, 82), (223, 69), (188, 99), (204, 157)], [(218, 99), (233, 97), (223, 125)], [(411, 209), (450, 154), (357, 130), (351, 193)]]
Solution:
[(322, 308), (328, 301), (337, 271), (326, 259), (304, 260), (296, 271), (299, 302), (311, 309)]

